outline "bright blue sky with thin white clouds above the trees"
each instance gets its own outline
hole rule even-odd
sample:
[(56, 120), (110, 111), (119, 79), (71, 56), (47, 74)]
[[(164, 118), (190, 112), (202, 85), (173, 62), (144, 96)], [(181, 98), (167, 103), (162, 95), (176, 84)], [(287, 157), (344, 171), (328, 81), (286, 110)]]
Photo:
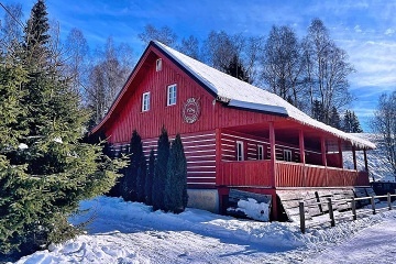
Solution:
[[(25, 18), (35, 3), (0, 1), (23, 2)], [(364, 130), (378, 96), (396, 89), (394, 0), (46, 0), (46, 4), (50, 18), (59, 21), (63, 36), (78, 28), (95, 48), (111, 35), (116, 42), (129, 43), (136, 58), (144, 48), (138, 34), (147, 23), (167, 25), (179, 38), (204, 40), (211, 30), (266, 36), (273, 24), (293, 26), (302, 36), (310, 21), (319, 18), (356, 69), (349, 78), (356, 97), (351, 107)]]

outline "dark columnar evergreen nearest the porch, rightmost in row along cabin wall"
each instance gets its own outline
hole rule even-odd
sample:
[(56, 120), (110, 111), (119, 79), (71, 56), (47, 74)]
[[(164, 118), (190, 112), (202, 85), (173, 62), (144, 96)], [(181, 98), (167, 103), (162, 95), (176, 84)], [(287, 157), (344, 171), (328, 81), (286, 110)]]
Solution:
[(187, 161), (180, 135), (172, 142), (166, 170), (165, 208), (179, 213), (187, 206)]

